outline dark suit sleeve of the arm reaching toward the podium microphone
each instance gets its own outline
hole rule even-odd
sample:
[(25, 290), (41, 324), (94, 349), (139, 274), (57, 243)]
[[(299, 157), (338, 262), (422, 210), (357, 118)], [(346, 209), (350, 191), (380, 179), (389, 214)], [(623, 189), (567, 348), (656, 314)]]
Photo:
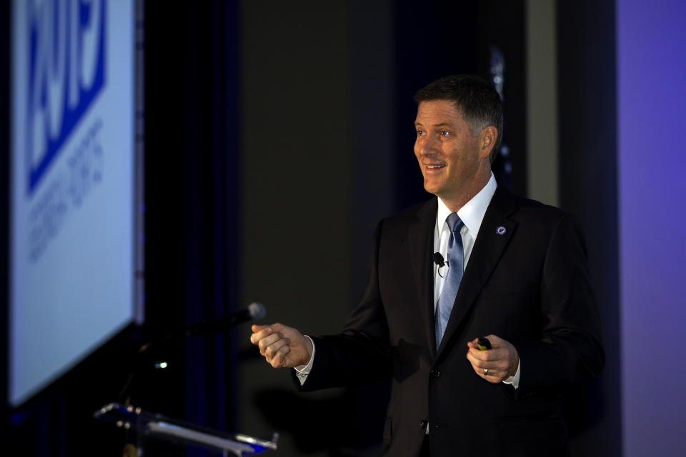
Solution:
[(312, 337), (317, 348), (312, 371), (302, 386), (294, 376), (301, 391), (364, 383), (390, 373), (388, 324), (377, 274), (382, 224), (383, 221), (374, 231), (369, 278), (362, 300), (342, 333)]

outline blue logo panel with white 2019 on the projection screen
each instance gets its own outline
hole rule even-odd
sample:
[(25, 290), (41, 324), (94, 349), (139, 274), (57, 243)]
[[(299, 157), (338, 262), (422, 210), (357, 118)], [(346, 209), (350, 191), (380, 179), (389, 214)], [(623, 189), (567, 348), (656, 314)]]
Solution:
[(104, 86), (106, 4), (105, 0), (33, 0), (26, 8), (30, 196)]

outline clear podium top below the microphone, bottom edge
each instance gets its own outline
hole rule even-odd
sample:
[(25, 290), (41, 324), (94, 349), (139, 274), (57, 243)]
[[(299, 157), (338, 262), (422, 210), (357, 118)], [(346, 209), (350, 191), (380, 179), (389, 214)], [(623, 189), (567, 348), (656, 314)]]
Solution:
[(119, 403), (109, 403), (93, 416), (129, 432), (133, 438), (129, 441), (135, 442), (127, 445), (131, 446), (129, 453), (140, 457), (176, 455), (174, 452), (184, 456), (187, 446), (204, 448), (211, 456), (252, 456), (276, 450), (279, 438), (277, 433), (270, 439), (226, 433)]

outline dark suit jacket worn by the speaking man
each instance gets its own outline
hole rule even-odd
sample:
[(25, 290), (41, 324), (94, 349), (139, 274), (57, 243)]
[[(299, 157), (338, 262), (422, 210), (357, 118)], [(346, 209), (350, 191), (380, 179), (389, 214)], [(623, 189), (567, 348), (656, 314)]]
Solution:
[[(389, 456), (416, 456), (427, 421), (432, 456), (566, 455), (560, 391), (605, 363), (580, 230), (563, 211), (499, 186), (436, 350), (436, 211), (434, 198), (379, 223), (362, 301), (342, 333), (313, 338), (301, 390), (390, 376)], [(516, 391), (467, 361), (467, 341), (489, 333), (517, 348)]]

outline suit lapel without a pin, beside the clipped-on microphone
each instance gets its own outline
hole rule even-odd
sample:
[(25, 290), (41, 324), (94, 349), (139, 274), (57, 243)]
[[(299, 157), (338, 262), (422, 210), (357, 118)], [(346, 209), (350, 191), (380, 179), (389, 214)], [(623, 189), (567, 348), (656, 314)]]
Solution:
[(431, 199), (417, 211), (417, 221), (409, 226), (409, 248), (417, 282), (419, 306), (422, 306), (424, 333), (432, 356), (436, 353), (434, 335), (434, 278), (432, 257), (434, 247), (434, 226), (436, 225), (437, 199)]

